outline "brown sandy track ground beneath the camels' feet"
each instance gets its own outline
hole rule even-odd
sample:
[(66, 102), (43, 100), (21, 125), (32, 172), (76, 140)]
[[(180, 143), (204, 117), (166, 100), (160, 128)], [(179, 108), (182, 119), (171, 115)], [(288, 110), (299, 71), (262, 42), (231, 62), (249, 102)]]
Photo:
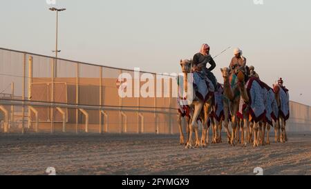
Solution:
[(311, 134), (247, 148), (185, 149), (178, 135), (3, 135), (0, 175), (311, 175)]

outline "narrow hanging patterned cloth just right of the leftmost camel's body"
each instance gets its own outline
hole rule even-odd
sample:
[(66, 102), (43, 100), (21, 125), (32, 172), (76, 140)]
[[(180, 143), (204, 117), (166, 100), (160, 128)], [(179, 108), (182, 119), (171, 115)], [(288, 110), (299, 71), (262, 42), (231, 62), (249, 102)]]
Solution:
[(224, 117), (223, 98), (223, 86), (217, 83), (217, 89), (214, 92), (215, 109), (212, 114), (217, 121), (220, 121), (220, 119)]

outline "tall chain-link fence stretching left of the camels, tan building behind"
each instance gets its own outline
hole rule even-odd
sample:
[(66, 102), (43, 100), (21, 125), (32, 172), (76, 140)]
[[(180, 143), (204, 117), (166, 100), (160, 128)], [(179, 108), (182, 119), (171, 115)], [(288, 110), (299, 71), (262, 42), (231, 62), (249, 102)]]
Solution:
[[(0, 132), (178, 132), (176, 98), (121, 98), (121, 73), (135, 72), (0, 48)], [(149, 92), (171, 92), (150, 74)]]

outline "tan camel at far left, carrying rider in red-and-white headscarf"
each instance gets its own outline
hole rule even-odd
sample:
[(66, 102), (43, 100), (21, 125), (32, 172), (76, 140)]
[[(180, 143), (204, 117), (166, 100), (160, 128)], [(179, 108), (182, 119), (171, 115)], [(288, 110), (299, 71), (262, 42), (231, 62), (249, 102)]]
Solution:
[[(191, 61), (190, 60), (180, 60), (180, 66), (182, 68), (182, 73), (184, 74), (184, 90), (185, 92), (188, 92), (188, 74), (191, 72)], [(190, 107), (190, 112), (191, 112), (191, 120), (189, 121), (189, 139), (186, 144), (186, 148), (191, 148), (192, 147), (192, 132), (194, 130), (195, 135), (196, 135), (196, 142), (195, 142), (195, 147), (199, 147), (202, 145), (204, 148), (207, 146), (206, 143), (206, 138), (207, 138), (207, 133), (209, 130), (209, 127), (207, 127), (207, 121), (209, 119), (209, 113), (211, 110), (211, 104), (212, 104), (212, 97), (209, 96), (206, 101), (203, 101), (200, 99), (195, 92), (191, 91), (192, 95), (192, 101), (189, 101), (189, 107)], [(204, 113), (204, 119), (202, 119), (202, 137), (201, 141), (198, 138), (198, 123), (197, 119), (201, 114), (201, 110), (203, 108), (203, 113)]]

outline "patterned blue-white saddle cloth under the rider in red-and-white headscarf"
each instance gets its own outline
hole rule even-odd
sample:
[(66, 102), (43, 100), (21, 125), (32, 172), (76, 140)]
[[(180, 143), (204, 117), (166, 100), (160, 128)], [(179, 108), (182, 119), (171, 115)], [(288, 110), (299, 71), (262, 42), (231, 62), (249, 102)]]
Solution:
[(215, 92), (213, 83), (207, 78), (205, 72), (193, 72), (194, 92), (202, 101), (207, 101)]

